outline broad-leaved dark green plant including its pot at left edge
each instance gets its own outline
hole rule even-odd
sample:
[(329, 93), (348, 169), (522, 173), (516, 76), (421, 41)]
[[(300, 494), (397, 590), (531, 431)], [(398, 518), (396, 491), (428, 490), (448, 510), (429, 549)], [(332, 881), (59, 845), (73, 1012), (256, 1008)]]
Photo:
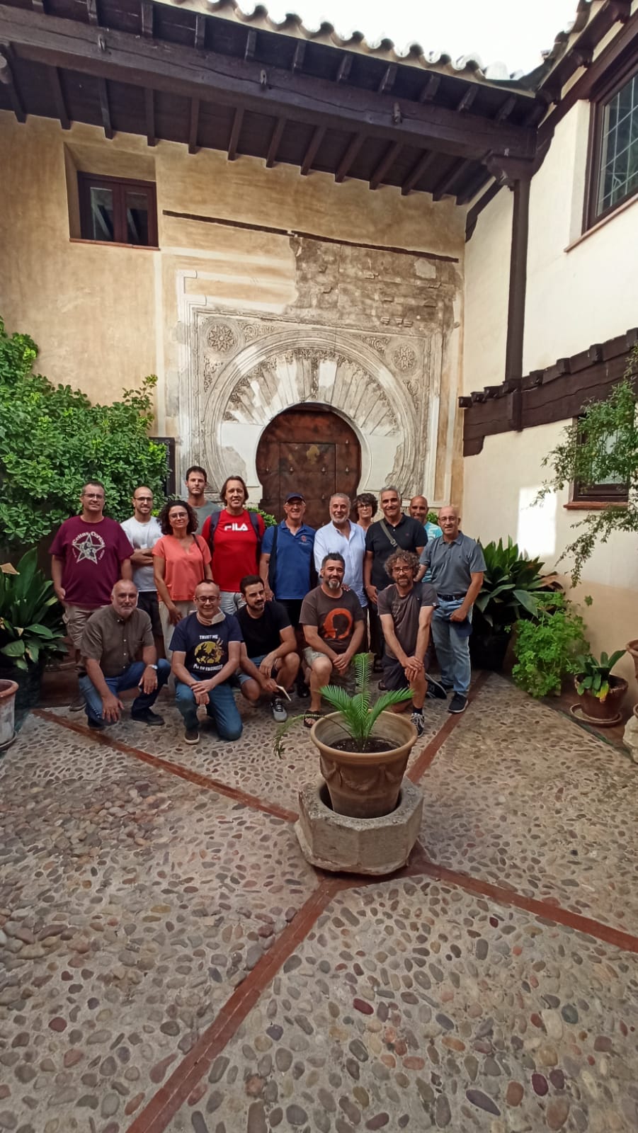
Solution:
[(33, 547), (0, 571), (0, 680), (14, 681), (16, 729), (40, 699), (44, 665), (63, 654), (62, 613)]

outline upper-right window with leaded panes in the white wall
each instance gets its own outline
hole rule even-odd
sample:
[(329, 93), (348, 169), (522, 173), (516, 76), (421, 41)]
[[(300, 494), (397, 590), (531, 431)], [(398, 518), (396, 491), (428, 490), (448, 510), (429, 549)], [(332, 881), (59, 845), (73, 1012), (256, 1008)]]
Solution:
[(592, 105), (584, 230), (638, 193), (638, 60), (615, 69)]

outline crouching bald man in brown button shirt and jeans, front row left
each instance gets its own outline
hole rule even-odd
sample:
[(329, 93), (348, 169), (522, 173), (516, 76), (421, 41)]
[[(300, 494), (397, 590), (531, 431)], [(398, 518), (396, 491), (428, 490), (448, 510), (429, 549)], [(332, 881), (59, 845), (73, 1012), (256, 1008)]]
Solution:
[[(137, 608), (133, 582), (116, 582), (111, 605), (91, 615), (80, 651), (79, 688), (90, 727), (116, 724), (124, 708), (119, 693), (136, 687), (139, 693), (133, 701), (131, 718), (150, 725), (164, 723), (152, 707), (171, 670), (168, 661), (158, 661), (151, 619)], [(142, 661), (136, 659), (139, 653)]]

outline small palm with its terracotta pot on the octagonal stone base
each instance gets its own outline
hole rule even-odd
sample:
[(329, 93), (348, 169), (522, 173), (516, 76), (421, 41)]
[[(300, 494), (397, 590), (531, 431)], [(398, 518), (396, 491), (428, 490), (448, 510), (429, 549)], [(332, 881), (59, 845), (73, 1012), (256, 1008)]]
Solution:
[[(371, 704), (369, 654), (352, 658), (355, 692), (329, 684), (322, 696), (335, 712), (315, 721), (311, 740), (320, 752), (332, 809), (350, 818), (380, 818), (394, 810), (403, 772), (417, 739), (412, 722), (386, 712), (391, 705), (411, 700), (410, 689), (384, 692)], [(275, 735), (281, 755), (288, 729), (301, 716), (290, 717)]]

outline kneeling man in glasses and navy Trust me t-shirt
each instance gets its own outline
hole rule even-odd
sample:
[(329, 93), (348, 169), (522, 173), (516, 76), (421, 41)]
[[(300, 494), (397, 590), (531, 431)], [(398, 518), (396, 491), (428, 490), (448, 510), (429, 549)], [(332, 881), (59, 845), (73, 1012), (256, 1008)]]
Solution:
[(195, 587), (195, 607), (194, 614), (177, 623), (170, 642), (184, 740), (199, 742), (199, 705), (206, 706), (220, 739), (238, 740), (241, 718), (229, 681), (239, 665), (241, 630), (236, 617), (221, 612), (216, 582)]

